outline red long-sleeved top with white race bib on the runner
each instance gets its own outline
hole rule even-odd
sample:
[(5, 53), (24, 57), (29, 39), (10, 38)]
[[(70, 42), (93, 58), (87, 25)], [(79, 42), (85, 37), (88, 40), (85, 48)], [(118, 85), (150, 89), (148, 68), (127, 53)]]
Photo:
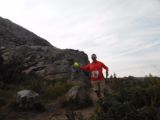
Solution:
[(106, 69), (106, 71), (108, 71), (108, 67), (100, 61), (92, 62), (92, 63), (90, 63), (86, 66), (82, 66), (80, 68), (83, 71), (89, 71), (90, 72), (90, 78), (93, 81), (104, 80), (102, 69), (104, 68), (104, 69)]

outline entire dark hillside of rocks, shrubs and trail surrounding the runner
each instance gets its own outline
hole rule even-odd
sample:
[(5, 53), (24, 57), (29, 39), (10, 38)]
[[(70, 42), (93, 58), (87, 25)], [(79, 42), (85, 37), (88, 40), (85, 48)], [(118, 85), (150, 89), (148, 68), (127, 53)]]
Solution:
[(0, 120), (160, 120), (160, 78), (108, 78), (97, 100), (75, 61), (89, 63), (0, 17)]

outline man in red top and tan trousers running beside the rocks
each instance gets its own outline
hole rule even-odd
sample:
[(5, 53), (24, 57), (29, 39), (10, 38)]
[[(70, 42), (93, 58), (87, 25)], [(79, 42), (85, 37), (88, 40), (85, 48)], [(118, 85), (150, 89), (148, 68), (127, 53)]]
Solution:
[(103, 68), (106, 70), (106, 78), (108, 77), (108, 67), (97, 60), (96, 54), (91, 55), (92, 63), (80, 67), (83, 71), (90, 73), (91, 85), (98, 98), (104, 97), (105, 80), (103, 76)]

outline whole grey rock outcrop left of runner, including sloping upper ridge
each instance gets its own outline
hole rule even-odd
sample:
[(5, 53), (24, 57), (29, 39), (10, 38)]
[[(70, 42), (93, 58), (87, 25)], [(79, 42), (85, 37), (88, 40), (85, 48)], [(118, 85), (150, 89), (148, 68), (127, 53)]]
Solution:
[[(21, 73), (47, 80), (71, 79), (74, 61), (88, 63), (84, 52), (58, 49), (34, 33), (0, 17), (0, 53), (3, 64), (17, 63)], [(82, 75), (82, 74), (81, 74)], [(78, 78), (87, 79), (84, 75)]]

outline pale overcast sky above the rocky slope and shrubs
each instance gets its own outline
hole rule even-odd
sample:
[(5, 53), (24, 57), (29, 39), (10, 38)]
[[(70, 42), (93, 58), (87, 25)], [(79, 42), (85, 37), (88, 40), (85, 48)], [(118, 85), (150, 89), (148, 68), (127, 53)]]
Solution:
[(0, 16), (118, 76), (160, 76), (160, 0), (0, 0)]

